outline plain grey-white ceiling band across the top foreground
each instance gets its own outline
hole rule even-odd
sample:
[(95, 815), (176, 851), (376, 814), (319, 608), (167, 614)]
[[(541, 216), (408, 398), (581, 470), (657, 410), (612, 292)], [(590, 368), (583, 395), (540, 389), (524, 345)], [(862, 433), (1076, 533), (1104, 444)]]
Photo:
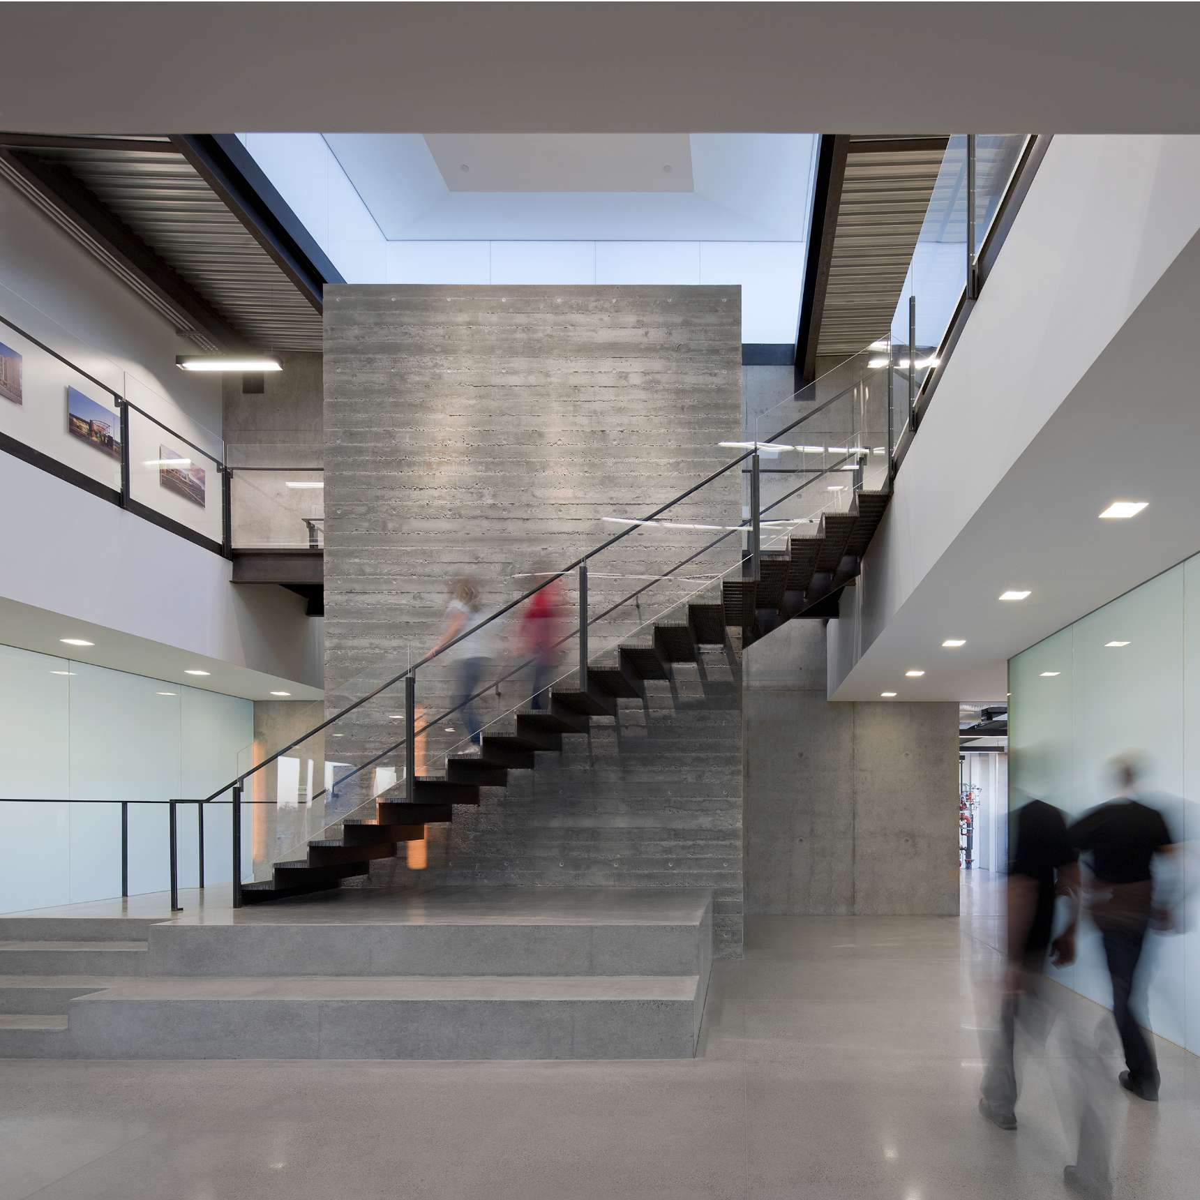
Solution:
[(4, 126), (47, 133), (1200, 131), (1193, 4), (7, 4), (4, 35)]

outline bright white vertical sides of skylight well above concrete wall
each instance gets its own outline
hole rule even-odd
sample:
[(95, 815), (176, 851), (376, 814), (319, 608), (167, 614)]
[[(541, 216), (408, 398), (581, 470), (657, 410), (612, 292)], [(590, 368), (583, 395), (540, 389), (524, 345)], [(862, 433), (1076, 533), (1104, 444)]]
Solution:
[[(742, 287), (743, 342), (796, 341), (804, 284), (803, 241), (713, 241), (695, 236), (684, 241), (550, 240), (553, 230), (547, 222), (536, 227), (548, 232), (534, 240), (521, 236), (388, 240), (319, 133), (246, 133), (241, 138), (349, 283), (736, 283)], [(407, 160), (396, 167), (401, 168), (409, 174), (416, 169)], [(806, 218), (809, 161), (805, 158), (797, 170), (797, 180), (803, 180), (804, 186), (797, 192), (796, 206)], [(434, 203), (444, 196), (445, 185), (440, 179), (436, 182), (439, 186), (413, 190), (414, 212), (424, 203), (422, 197)], [(558, 198), (570, 199), (570, 196), (564, 193)], [(462, 203), (482, 199), (494, 208), (498, 197), (455, 193), (450, 199)], [(499, 199), (520, 209), (521, 229), (530, 228), (526, 220), (528, 196), (512, 193)], [(638, 193), (632, 198), (630, 220), (622, 228), (637, 228), (638, 221), (644, 226), (647, 206), (670, 199), (670, 196)], [(725, 199), (731, 205), (737, 203), (736, 196)], [(624, 200), (614, 196), (606, 198), (606, 203)], [(571, 226), (577, 227), (578, 222)], [(673, 236), (685, 233), (676, 223)]]

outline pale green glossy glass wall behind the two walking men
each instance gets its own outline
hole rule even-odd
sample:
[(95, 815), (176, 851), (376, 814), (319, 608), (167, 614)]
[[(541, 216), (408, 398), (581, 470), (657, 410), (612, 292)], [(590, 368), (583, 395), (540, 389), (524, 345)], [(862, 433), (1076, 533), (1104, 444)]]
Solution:
[[(1109, 647), (1110, 641), (1129, 644)], [(1037, 797), (1063, 809), (1068, 820), (1079, 817), (1115, 794), (1111, 757), (1134, 751), (1146, 768), (1142, 791), (1175, 838), (1200, 838), (1200, 558), (1016, 655), (1009, 683), (1014, 808)], [(1193, 893), (1184, 932), (1147, 940), (1148, 1018), (1157, 1033), (1200, 1052), (1200, 863), (1194, 846), (1186, 847), (1183, 872)], [(1085, 926), (1078, 964), (1058, 977), (1085, 996), (1111, 1003), (1094, 929)]]

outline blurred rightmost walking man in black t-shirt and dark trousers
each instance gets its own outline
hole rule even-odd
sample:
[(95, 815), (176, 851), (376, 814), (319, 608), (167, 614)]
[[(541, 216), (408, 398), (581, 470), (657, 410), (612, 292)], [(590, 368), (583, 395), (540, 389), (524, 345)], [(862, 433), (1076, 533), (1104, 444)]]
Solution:
[(1170, 929), (1170, 907), (1154, 896), (1156, 856), (1174, 851), (1163, 815), (1134, 799), (1138, 772), (1129, 760), (1117, 762), (1122, 796), (1085, 812), (1069, 830), (1072, 845), (1091, 868), (1088, 912), (1104, 943), (1112, 980), (1112, 1015), (1124, 1050), (1127, 1070), (1121, 1086), (1144, 1100), (1158, 1099), (1158, 1060), (1142, 1032), (1141, 962), (1146, 932)]

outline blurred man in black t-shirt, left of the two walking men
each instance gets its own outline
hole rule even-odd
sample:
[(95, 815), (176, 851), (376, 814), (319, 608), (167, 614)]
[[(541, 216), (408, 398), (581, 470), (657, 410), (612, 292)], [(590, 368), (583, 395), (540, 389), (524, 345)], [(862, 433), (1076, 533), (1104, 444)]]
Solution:
[[(1062, 812), (1044, 800), (1030, 800), (1013, 815), (1008, 844), (1008, 930), (1004, 990), (1000, 1032), (983, 1079), (979, 1111), (1001, 1129), (1015, 1129), (1016, 1068), (1013, 1050), (1016, 1022), (1040, 1024), (1031, 1030), (1044, 1037), (1045, 1006), (1040, 1000), (1048, 950), (1055, 966), (1075, 959), (1075, 926), (1079, 917), (1079, 868), (1067, 838)], [(1055, 900), (1070, 901), (1067, 928), (1054, 938)], [(1042, 1018), (1039, 1022), (1037, 1016)]]

